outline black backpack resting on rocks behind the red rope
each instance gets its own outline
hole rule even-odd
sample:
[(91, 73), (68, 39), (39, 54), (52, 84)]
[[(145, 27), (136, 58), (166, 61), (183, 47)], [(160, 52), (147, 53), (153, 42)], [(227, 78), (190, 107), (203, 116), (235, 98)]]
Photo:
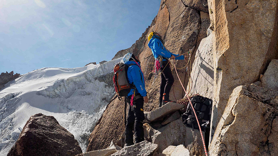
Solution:
[[(190, 101), (195, 109), (202, 131), (206, 132), (206, 129), (209, 128), (210, 125), (212, 100), (197, 95), (193, 96)], [(182, 119), (184, 125), (192, 127), (192, 129), (199, 130), (199, 126), (195, 114), (191, 108), (190, 102), (188, 102), (186, 112), (183, 113)]]

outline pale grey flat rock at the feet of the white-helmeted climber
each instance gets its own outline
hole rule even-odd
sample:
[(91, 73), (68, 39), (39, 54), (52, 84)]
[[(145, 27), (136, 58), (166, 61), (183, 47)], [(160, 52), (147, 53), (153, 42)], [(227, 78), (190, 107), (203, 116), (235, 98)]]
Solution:
[(122, 150), (117, 151), (111, 156), (152, 156), (157, 151), (157, 145), (148, 141), (143, 141), (132, 146), (124, 147)]

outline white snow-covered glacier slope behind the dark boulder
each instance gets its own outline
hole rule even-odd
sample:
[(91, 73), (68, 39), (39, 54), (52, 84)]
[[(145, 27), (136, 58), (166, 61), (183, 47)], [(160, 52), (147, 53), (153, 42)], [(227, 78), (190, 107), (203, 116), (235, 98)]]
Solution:
[(15, 144), (30, 116), (53, 116), (74, 135), (83, 152), (88, 137), (115, 95), (113, 68), (121, 58), (79, 68), (41, 68), (0, 90), (0, 155)]

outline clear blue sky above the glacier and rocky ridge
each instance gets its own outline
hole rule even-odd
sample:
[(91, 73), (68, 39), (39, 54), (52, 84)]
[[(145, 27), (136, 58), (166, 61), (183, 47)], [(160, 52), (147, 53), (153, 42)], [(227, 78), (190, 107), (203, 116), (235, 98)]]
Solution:
[(74, 68), (131, 47), (160, 0), (1, 0), (0, 72)]

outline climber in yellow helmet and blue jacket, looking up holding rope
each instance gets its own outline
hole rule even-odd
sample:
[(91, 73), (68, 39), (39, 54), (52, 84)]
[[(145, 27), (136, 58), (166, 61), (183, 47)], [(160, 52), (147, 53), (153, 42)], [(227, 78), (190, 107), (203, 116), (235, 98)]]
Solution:
[[(168, 64), (168, 59), (175, 59), (175, 60), (184, 60), (184, 56), (176, 55), (168, 51), (162, 41), (162, 37), (157, 32), (151, 32), (148, 36), (149, 44), (148, 46), (151, 48), (154, 59), (160, 60), (162, 58), (162, 62), (159, 64), (160, 71), (162, 71), (160, 75), (160, 90), (159, 90), (159, 107), (165, 105), (167, 102), (175, 102), (169, 100), (169, 94), (172, 85), (174, 84), (174, 77), (171, 72), (170, 64)], [(178, 57), (176, 57), (178, 56)], [(159, 61), (157, 61), (159, 62)]]

